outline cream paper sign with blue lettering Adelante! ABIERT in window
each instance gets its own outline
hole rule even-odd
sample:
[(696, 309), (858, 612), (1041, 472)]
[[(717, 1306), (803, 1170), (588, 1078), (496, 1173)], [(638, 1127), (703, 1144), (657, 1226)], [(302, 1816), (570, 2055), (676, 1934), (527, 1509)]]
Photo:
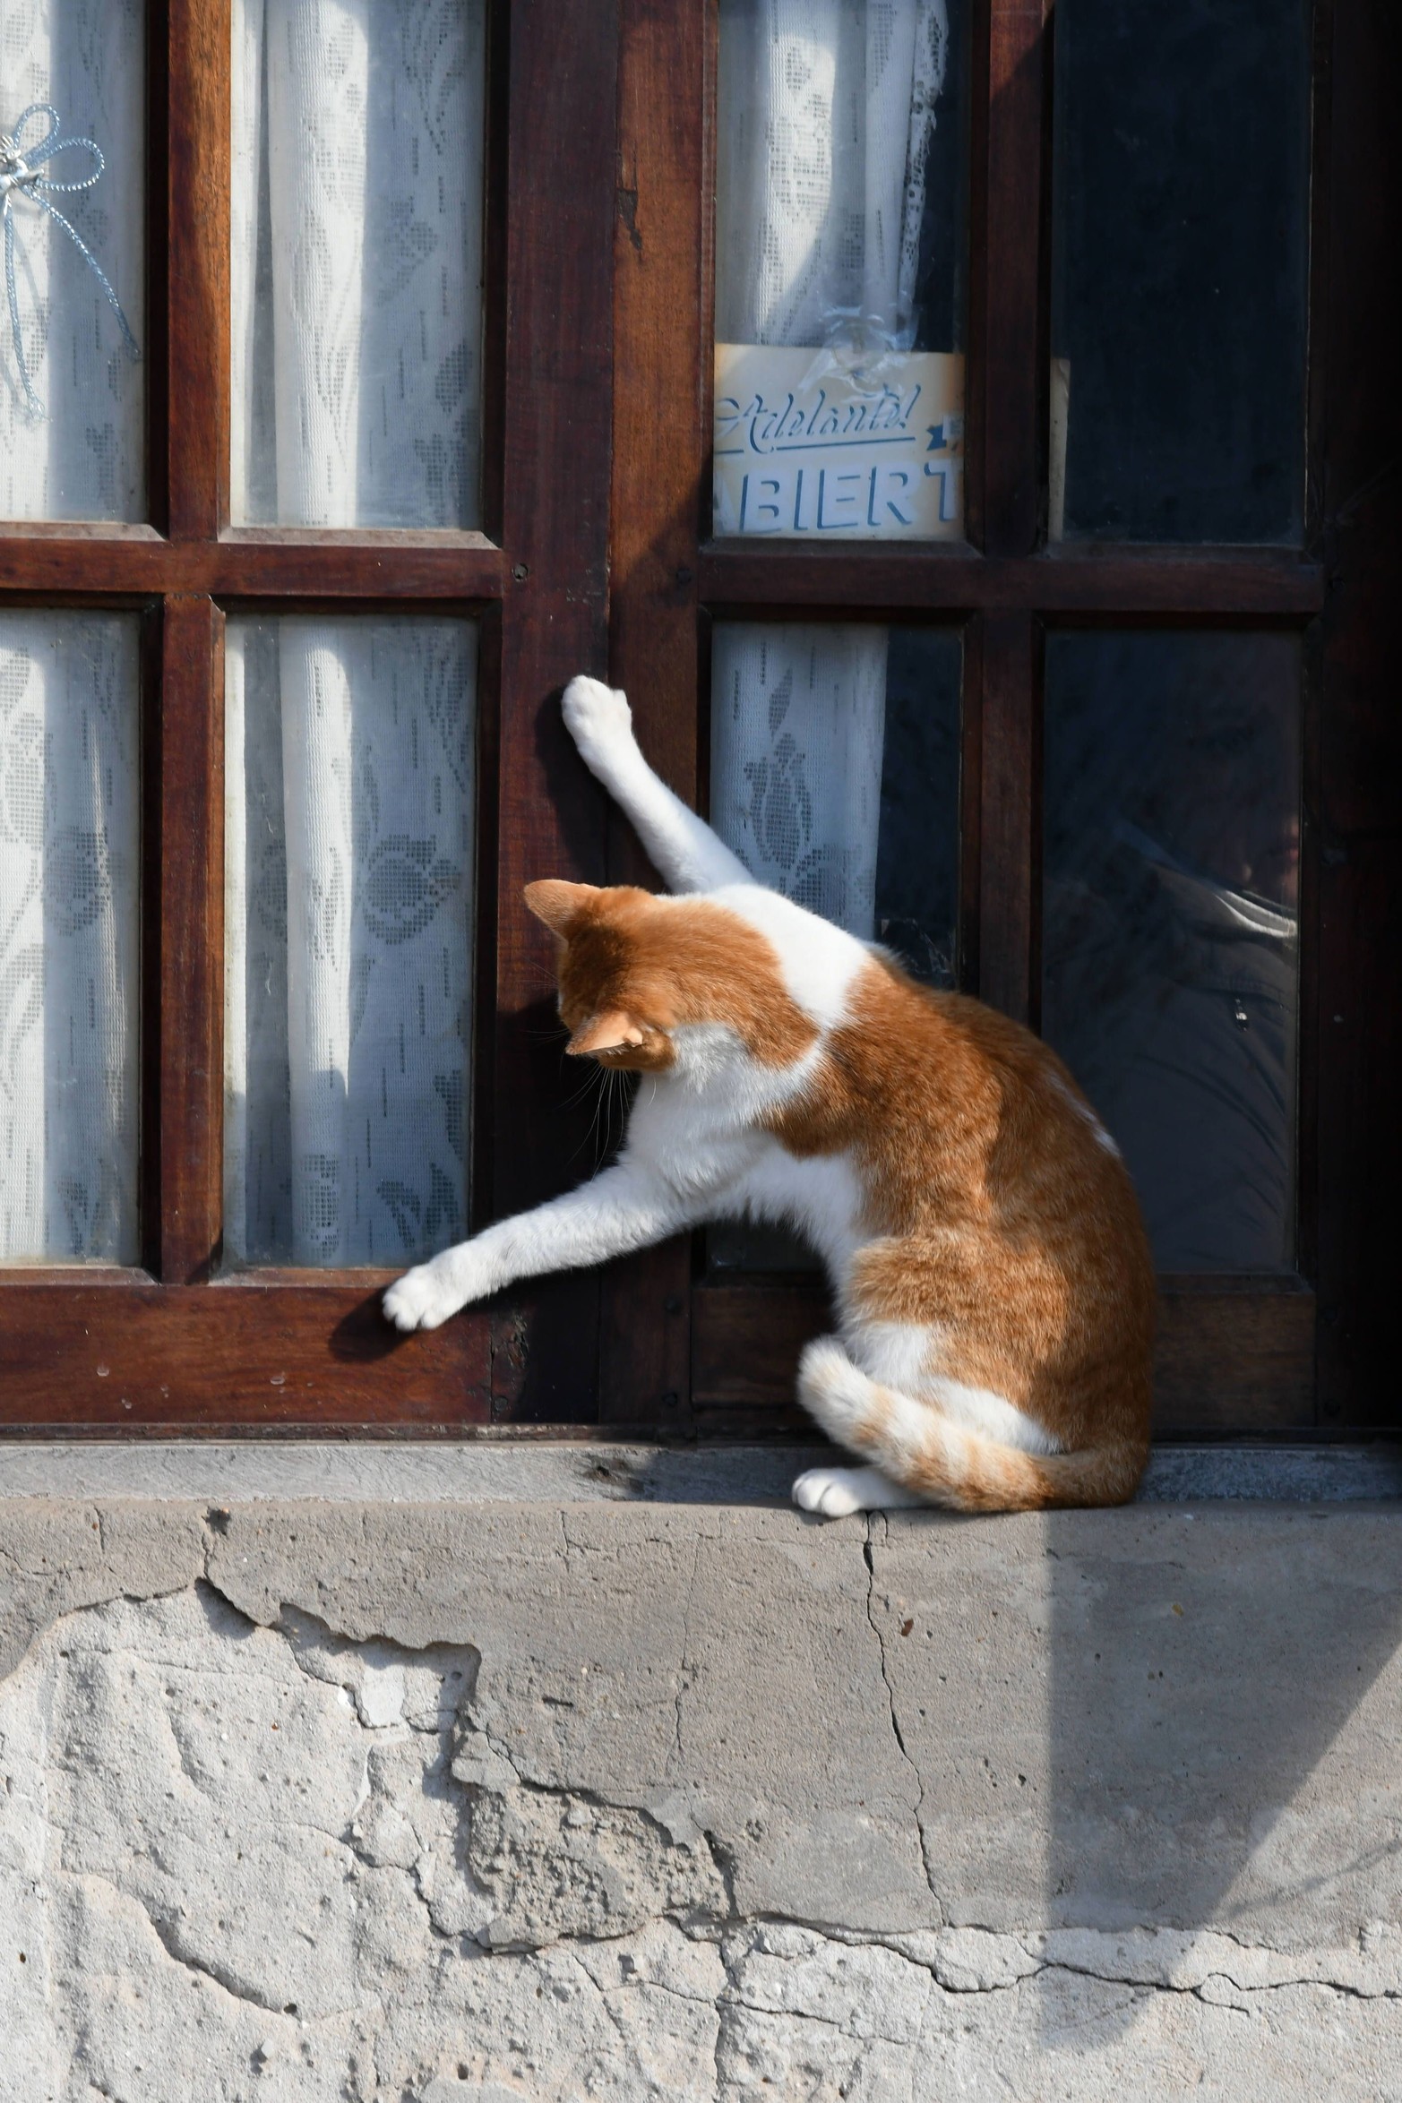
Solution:
[(715, 349), (715, 532), (961, 540), (965, 362)]

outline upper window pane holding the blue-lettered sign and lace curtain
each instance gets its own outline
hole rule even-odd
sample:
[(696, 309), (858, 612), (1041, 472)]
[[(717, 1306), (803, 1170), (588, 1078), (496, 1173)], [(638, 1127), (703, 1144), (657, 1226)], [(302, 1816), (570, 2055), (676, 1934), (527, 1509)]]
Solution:
[(958, 538), (965, 0), (721, 0), (715, 530)]

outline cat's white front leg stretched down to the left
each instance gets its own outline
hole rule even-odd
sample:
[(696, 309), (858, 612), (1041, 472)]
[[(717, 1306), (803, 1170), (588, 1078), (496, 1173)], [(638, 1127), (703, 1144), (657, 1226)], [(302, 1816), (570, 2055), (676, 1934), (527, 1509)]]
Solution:
[(406, 1270), (385, 1293), (385, 1314), (397, 1329), (437, 1329), (471, 1300), (486, 1300), (515, 1279), (603, 1264), (694, 1224), (692, 1207), (671, 1184), (637, 1161), (618, 1161), (568, 1197), (519, 1211)]

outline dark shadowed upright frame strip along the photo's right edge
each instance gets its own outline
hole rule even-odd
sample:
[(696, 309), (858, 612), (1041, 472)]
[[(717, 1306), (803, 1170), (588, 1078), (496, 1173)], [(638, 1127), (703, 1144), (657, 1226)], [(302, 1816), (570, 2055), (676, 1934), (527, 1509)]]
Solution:
[[(1398, 1428), (1402, 1180), (1402, 8), (1333, 11), (1318, 898), (1318, 1380), (1328, 1426)], [(1316, 238), (1320, 233), (1316, 221)], [(1318, 309), (1316, 309), (1318, 311)], [(1322, 341), (1320, 341), (1322, 339)]]

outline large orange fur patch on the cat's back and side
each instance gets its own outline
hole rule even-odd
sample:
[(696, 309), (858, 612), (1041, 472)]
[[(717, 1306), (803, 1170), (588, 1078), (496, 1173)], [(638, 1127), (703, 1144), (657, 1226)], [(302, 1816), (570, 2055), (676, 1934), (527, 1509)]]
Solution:
[(946, 1377), (1061, 1447), (1120, 1409), (1148, 1445), (1154, 1266), (1125, 1163), (1078, 1104), (1030, 1030), (872, 959), (774, 1131), (862, 1167), (879, 1239), (853, 1266), (853, 1312), (935, 1325)]

